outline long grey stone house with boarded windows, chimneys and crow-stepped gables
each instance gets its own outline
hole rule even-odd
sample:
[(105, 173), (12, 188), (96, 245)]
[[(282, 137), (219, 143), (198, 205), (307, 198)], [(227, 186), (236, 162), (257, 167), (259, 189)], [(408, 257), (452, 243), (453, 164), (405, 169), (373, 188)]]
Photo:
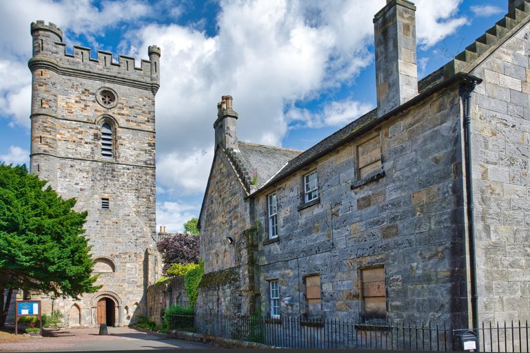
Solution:
[(238, 141), (223, 97), (196, 311), (530, 319), (530, 2), (508, 2), (418, 81), (416, 7), (387, 0), (374, 17), (377, 108), (307, 151)]

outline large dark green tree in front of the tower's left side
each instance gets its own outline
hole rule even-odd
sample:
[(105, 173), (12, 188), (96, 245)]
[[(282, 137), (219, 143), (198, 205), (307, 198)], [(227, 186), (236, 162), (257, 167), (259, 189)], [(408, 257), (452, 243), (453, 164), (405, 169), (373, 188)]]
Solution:
[(83, 235), (87, 213), (45, 184), (26, 165), (0, 163), (0, 327), (15, 289), (78, 299), (100, 288)]

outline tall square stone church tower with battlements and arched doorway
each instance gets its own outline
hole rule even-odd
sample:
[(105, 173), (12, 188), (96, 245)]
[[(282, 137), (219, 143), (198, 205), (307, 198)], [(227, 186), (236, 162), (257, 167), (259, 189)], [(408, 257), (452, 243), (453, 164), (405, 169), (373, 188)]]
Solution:
[(88, 211), (86, 236), (99, 292), (43, 299), (66, 325), (128, 325), (147, 314), (145, 292), (161, 261), (154, 248), (154, 96), (160, 49), (150, 61), (74, 46), (67, 52), (53, 23), (31, 24), (31, 172)]

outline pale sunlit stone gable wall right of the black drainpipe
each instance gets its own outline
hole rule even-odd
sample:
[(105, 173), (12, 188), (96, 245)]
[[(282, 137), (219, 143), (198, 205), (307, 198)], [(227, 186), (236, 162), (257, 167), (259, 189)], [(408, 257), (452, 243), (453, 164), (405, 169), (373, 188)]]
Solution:
[(480, 321), (530, 319), (530, 25), (471, 74)]

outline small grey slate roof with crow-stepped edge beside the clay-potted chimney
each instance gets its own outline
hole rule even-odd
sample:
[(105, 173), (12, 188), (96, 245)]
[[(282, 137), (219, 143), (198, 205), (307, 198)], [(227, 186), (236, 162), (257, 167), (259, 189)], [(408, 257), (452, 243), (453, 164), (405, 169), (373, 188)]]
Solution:
[(227, 149), (225, 152), (238, 173), (247, 192), (265, 185), (289, 160), (303, 151), (250, 142), (238, 142), (238, 151)]

